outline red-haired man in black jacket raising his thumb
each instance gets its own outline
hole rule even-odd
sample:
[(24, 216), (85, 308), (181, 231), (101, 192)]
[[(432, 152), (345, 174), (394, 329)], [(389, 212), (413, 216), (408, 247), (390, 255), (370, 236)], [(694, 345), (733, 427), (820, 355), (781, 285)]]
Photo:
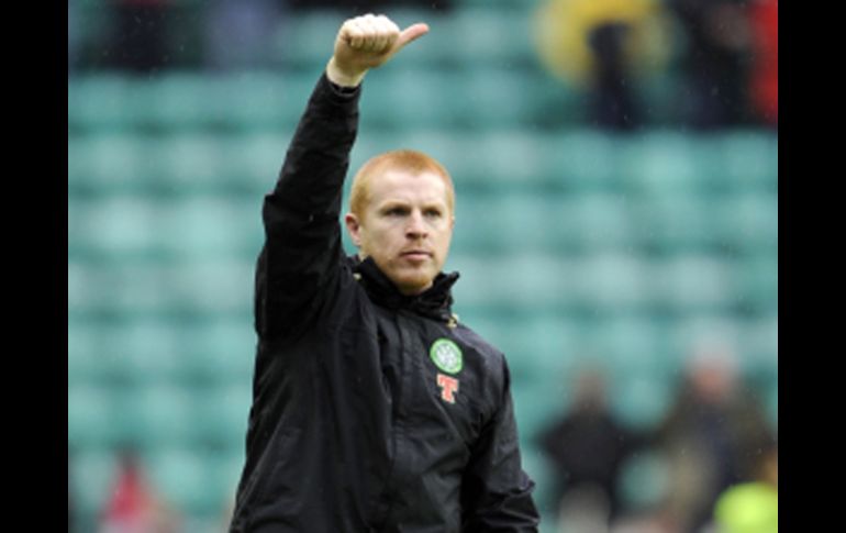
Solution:
[(428, 31), (346, 21), (265, 198), (247, 458), (231, 532), (536, 532), (505, 360), (450, 312), (453, 187), (378, 156), (341, 198), (360, 84)]

